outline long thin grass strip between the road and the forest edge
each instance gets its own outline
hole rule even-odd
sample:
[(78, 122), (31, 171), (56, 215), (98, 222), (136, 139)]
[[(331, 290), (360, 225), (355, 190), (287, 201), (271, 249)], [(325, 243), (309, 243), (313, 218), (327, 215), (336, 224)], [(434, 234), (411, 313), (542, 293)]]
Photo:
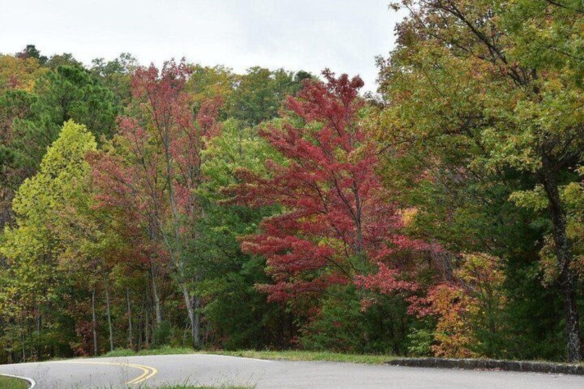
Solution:
[(257, 350), (203, 350), (196, 351), (191, 348), (172, 348), (164, 346), (149, 350), (136, 352), (127, 348), (120, 348), (103, 355), (104, 357), (132, 357), (134, 355), (171, 355), (171, 354), (214, 354), (229, 355), (231, 357), (246, 357), (256, 359), (278, 359), (286, 361), (334, 361), (353, 362), (355, 364), (383, 364), (386, 361), (395, 359), (393, 355), (367, 355), (367, 354), (344, 354), (332, 353), (330, 351), (257, 351)]

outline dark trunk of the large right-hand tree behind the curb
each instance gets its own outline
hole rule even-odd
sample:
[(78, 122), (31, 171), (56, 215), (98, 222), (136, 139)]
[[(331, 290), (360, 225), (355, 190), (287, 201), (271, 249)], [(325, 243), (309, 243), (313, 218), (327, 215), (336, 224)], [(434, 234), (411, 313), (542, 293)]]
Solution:
[(549, 201), (548, 210), (553, 224), (553, 238), (556, 260), (559, 264), (559, 282), (563, 295), (564, 317), (566, 322), (567, 359), (570, 362), (582, 360), (581, 333), (576, 306), (576, 275), (571, 269), (572, 242), (566, 233), (565, 213), (560, 200), (558, 184), (549, 162), (544, 160), (543, 187)]

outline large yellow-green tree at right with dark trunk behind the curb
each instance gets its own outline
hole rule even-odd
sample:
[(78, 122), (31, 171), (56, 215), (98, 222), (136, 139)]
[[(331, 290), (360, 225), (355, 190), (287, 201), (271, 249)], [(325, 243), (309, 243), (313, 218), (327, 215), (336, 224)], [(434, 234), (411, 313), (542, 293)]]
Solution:
[[(547, 1), (532, 3), (544, 9), (545, 20), (556, 27), (565, 12), (570, 13)], [(565, 183), (574, 180), (569, 172), (584, 150), (579, 108), (574, 109), (579, 107), (578, 78), (570, 70), (571, 61), (547, 54), (530, 61), (525, 54), (533, 52), (529, 34), (545, 34), (549, 26), (530, 17), (526, 10), (533, 8), (527, 2), (510, 7), (488, 1), (402, 4), (409, 16), (397, 29), (398, 47), (388, 61), (380, 62), (387, 118), (400, 132), (379, 138), (388, 147), (404, 143), (427, 148), (434, 143), (439, 151), (426, 162), (437, 167), (458, 160), (458, 171), (450, 171), (453, 181), (514, 176), (507, 181), (514, 182), (512, 190), (541, 185), (551, 226), (545, 235), (552, 237), (561, 269), (567, 356), (578, 361), (573, 244), (560, 195)], [(572, 10), (569, 19), (578, 22), (581, 16)], [(559, 35), (554, 39), (557, 43)], [(570, 41), (562, 42), (574, 48)], [(437, 178), (437, 169), (420, 168), (430, 180)]]

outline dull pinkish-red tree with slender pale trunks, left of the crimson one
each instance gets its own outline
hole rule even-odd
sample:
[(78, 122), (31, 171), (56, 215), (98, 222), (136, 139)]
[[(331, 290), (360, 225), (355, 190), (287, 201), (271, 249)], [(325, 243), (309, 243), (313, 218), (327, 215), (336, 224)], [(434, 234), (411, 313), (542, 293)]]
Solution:
[[(185, 274), (200, 218), (195, 191), (203, 180), (201, 152), (206, 140), (219, 131), (216, 121), (221, 101), (203, 103), (195, 114), (184, 92), (189, 67), (170, 61), (159, 72), (154, 65), (140, 67), (132, 78), (132, 104), (119, 118), (118, 153), (93, 159), (94, 177), (101, 204), (124, 216), (128, 231), (136, 228), (147, 242), (151, 257), (174, 265), (176, 281), (183, 289), (194, 343), (199, 339), (198, 299)], [(160, 261), (158, 261), (160, 262)], [(158, 322), (162, 313), (154, 282)]]

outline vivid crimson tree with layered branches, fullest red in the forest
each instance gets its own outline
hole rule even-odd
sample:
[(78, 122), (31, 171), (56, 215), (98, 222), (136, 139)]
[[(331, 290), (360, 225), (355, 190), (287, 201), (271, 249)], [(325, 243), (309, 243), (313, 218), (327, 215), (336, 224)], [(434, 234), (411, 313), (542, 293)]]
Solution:
[(399, 280), (406, 264), (396, 254), (424, 244), (399, 233), (399, 209), (375, 172), (375, 145), (359, 119), (363, 81), (323, 75), (326, 83), (307, 81), (288, 99), (292, 115), (282, 127), (260, 130), (285, 162), (267, 161), (269, 178), (240, 172), (246, 183), (233, 190), (236, 201), (282, 208), (244, 237), (242, 249), (267, 258), (275, 284), (260, 288), (271, 301), (350, 282), (384, 292), (415, 288)]

